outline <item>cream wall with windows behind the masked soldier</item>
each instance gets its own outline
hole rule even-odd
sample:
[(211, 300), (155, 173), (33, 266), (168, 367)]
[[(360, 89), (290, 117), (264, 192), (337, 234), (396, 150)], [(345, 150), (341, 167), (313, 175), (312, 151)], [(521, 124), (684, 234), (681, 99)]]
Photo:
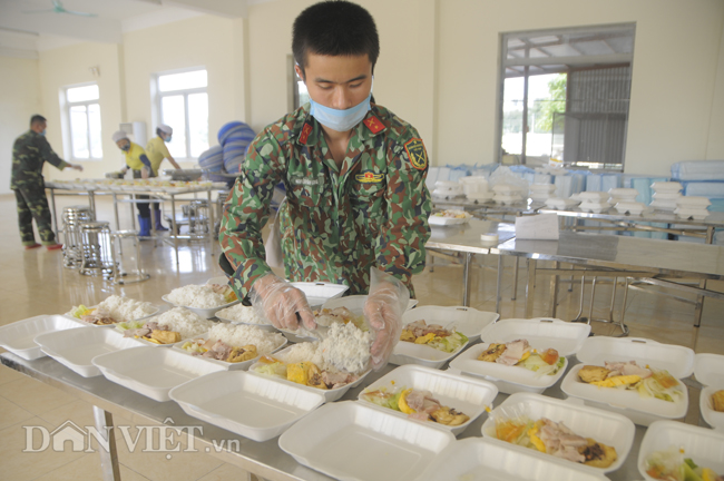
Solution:
[[(127, 32), (118, 47), (82, 43), (41, 52), (49, 140), (62, 151), (59, 88), (91, 79), (94, 65), (101, 67), (105, 139), (121, 120), (146, 121), (153, 135), (151, 75), (197, 66), (209, 72), (211, 138), (229, 120), (258, 131), (287, 111), (291, 27), (312, 2), (261, 2), (250, 6), (246, 19), (200, 16)], [(418, 127), (433, 165), (492, 161), (501, 32), (622, 22), (636, 23), (626, 171), (666, 175), (678, 160), (724, 158), (722, 0), (360, 3), (374, 16), (381, 38), (375, 98)], [(85, 176), (117, 165), (114, 148), (105, 140), (109, 158)]]

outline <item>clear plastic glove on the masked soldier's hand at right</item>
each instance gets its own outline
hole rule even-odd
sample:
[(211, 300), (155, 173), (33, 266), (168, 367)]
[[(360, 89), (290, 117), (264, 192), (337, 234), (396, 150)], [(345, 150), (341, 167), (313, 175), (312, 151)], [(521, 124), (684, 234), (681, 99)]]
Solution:
[(364, 315), (373, 333), (370, 354), (372, 369), (382, 369), (400, 341), (402, 313), (410, 301), (410, 291), (402, 282), (374, 267), (370, 269), (370, 295), (364, 303)]

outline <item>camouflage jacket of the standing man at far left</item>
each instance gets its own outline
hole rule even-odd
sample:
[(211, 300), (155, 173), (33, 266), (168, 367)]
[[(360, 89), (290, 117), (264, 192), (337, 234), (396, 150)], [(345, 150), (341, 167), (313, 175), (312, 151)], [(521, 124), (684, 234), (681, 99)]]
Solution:
[(52, 151), (45, 136), (28, 130), (18, 137), (12, 146), (10, 188), (14, 190), (28, 184), (42, 186), (42, 165), (46, 161), (60, 170), (68, 166), (68, 163)]

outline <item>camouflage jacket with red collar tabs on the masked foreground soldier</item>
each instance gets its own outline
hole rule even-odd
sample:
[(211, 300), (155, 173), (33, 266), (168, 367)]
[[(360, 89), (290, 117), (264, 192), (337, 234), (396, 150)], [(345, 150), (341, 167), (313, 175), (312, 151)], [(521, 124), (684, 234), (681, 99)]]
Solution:
[(271, 272), (262, 227), (274, 186), (283, 181), (282, 251), (290, 281), (346, 284), (366, 293), (378, 267), (412, 291), (430, 237), (428, 158), (417, 130), (372, 105), (353, 128), (337, 168), (309, 104), (267, 126), (250, 145), (228, 198), (219, 242), (239, 296)]

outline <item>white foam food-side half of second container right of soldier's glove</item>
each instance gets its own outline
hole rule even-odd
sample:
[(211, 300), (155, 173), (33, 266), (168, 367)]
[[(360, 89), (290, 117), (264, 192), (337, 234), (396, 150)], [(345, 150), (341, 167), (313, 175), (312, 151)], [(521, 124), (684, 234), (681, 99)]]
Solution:
[(568, 367), (568, 357), (561, 356), (565, 360), (564, 365), (556, 374), (539, 376), (534, 371), (521, 366), (508, 366), (495, 362), (478, 361), (478, 356), (489, 345), (490, 343), (473, 345), (452, 360), (450, 369), (453, 372), (485, 377), (497, 385), (501, 393), (512, 394), (517, 392), (541, 393), (556, 384), (566, 372), (566, 367)]

